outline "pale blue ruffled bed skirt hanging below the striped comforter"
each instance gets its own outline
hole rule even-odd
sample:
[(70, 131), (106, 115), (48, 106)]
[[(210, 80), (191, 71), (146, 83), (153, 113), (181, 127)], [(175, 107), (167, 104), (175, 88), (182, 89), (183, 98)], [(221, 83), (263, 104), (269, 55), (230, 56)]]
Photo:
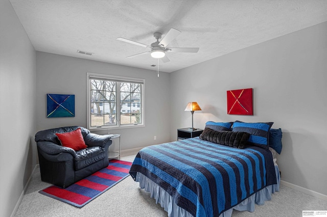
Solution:
[[(262, 189), (261, 191), (255, 193), (249, 198), (242, 201), (240, 204), (228, 209), (227, 211), (221, 213), (219, 217), (230, 217), (233, 209), (238, 211), (254, 211), (254, 203), (258, 205), (264, 205), (266, 200), (271, 200), (271, 194), (275, 191), (279, 191), (279, 183), (281, 182), (281, 176), (279, 176), (278, 166), (275, 165), (277, 184), (269, 185)], [(139, 182), (139, 187), (144, 188), (146, 192), (150, 192), (151, 198), (154, 198), (156, 203), (159, 203), (161, 207), (168, 212), (170, 217), (191, 217), (193, 216), (185, 209), (176, 205), (173, 197), (170, 196), (163, 188), (157, 185), (148, 177), (141, 173), (136, 174), (136, 180)]]

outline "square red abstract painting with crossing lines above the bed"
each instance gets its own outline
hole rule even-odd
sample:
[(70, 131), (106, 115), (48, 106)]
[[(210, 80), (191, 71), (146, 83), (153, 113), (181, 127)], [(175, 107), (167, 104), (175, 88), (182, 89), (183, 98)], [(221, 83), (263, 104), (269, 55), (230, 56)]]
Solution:
[(252, 88), (227, 91), (227, 114), (253, 115)]

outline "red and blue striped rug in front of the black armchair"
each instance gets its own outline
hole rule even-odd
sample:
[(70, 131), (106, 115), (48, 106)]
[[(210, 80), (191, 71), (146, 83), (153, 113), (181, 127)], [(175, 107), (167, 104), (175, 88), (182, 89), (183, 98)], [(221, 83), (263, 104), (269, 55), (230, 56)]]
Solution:
[(108, 167), (66, 188), (52, 185), (39, 193), (81, 208), (129, 176), (131, 165), (131, 162), (113, 159)]

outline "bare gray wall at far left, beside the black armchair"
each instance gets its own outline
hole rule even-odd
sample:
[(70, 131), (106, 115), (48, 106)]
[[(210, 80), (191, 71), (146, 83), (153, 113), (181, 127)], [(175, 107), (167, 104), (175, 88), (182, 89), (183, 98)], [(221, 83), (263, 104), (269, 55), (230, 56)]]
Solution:
[(0, 216), (10, 216), (36, 164), (36, 54), (9, 1), (0, 1)]

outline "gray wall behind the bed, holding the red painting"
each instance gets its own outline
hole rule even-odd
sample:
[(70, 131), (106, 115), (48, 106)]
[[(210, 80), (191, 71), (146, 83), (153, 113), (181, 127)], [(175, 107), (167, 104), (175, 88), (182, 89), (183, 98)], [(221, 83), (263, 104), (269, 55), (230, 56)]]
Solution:
[[(283, 130), (282, 179), (327, 195), (327, 22), (171, 74), (171, 140), (191, 126), (189, 101), (212, 121), (273, 121)], [(227, 115), (226, 91), (253, 88), (253, 116)]]

